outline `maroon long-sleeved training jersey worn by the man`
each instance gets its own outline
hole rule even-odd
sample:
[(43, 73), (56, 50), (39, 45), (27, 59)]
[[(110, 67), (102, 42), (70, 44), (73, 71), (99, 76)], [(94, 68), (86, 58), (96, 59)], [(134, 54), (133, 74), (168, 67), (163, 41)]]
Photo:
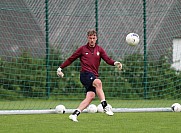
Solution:
[(89, 47), (89, 44), (81, 46), (75, 53), (73, 53), (60, 67), (63, 69), (70, 65), (77, 58), (81, 62), (81, 72), (88, 71), (95, 74), (98, 77), (98, 69), (100, 65), (101, 58), (109, 65), (114, 65), (114, 60), (108, 57), (104, 49), (97, 44), (95, 47)]

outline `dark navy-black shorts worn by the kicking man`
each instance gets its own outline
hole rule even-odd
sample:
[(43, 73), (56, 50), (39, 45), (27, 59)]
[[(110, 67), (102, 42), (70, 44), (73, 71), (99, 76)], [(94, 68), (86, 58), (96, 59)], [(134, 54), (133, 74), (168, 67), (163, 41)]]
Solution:
[(86, 88), (86, 93), (89, 91), (96, 93), (96, 88), (92, 86), (92, 83), (95, 79), (96, 76), (92, 72), (85, 71), (80, 73), (80, 81)]

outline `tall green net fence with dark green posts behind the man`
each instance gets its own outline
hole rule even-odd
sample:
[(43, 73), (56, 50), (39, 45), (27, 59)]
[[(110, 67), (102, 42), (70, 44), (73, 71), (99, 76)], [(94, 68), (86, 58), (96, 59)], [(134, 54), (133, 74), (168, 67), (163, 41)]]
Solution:
[[(179, 0), (3, 0), (0, 2), (0, 109), (75, 108), (84, 99), (80, 62), (59, 65), (87, 43), (88, 29), (123, 70), (100, 66), (114, 107), (170, 107), (181, 102)], [(126, 35), (140, 43), (131, 47)], [(98, 99), (95, 100), (98, 104)]]

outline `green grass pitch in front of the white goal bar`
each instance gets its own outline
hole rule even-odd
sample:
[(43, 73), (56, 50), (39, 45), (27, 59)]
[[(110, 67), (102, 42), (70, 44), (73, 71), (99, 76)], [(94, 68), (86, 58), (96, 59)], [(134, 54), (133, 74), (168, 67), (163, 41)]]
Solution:
[(70, 114), (0, 115), (2, 133), (180, 133), (181, 113), (141, 112), (82, 113), (78, 120)]

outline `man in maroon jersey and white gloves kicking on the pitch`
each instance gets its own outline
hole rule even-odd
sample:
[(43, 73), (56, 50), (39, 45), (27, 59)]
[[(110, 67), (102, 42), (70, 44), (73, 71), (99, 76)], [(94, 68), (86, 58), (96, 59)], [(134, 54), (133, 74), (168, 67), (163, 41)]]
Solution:
[(112, 60), (110, 57), (108, 57), (104, 49), (96, 44), (97, 33), (95, 30), (89, 30), (87, 32), (87, 39), (88, 43), (79, 47), (57, 69), (57, 75), (59, 77), (63, 77), (64, 74), (62, 69), (69, 66), (77, 58), (80, 59), (80, 81), (86, 88), (86, 97), (80, 103), (78, 108), (69, 116), (69, 119), (75, 122), (78, 122), (77, 116), (92, 102), (96, 94), (101, 101), (104, 112), (110, 116), (114, 114), (110, 107), (107, 106), (108, 104), (105, 100), (104, 91), (102, 89), (102, 82), (98, 78), (98, 69), (101, 59), (103, 59), (109, 65), (117, 66), (119, 70), (122, 69), (122, 64), (120, 62)]

